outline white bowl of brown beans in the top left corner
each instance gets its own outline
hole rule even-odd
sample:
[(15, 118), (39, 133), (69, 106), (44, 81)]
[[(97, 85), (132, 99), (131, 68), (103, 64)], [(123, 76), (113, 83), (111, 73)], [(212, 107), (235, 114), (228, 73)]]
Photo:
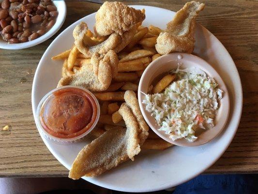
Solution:
[(64, 0), (0, 0), (0, 48), (38, 45), (58, 32), (65, 16)]

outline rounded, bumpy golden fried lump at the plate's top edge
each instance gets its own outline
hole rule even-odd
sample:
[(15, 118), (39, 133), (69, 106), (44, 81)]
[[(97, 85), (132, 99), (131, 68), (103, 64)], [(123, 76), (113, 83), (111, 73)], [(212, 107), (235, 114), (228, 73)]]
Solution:
[(122, 35), (144, 19), (145, 14), (140, 10), (121, 2), (106, 1), (97, 11), (94, 29), (98, 36), (106, 36), (113, 32)]

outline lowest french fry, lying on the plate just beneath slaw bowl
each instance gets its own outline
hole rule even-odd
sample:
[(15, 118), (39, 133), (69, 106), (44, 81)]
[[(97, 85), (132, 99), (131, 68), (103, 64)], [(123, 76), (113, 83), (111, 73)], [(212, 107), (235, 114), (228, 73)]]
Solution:
[(170, 144), (163, 139), (147, 139), (141, 146), (142, 149), (155, 149), (155, 150), (161, 150), (166, 149), (168, 147), (173, 146), (173, 144)]

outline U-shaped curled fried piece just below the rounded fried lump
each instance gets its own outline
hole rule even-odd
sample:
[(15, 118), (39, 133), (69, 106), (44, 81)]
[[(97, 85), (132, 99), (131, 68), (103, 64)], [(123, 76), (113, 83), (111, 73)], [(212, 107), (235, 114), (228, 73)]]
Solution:
[(75, 45), (77, 49), (83, 53), (86, 57), (91, 57), (93, 53), (105, 54), (109, 50), (113, 50), (121, 43), (121, 36), (116, 33), (110, 34), (110, 36), (98, 45), (92, 45), (91, 41), (87, 43), (89, 38), (85, 38), (87, 34), (88, 26), (86, 23), (81, 22), (78, 24), (74, 31), (73, 36), (75, 38)]

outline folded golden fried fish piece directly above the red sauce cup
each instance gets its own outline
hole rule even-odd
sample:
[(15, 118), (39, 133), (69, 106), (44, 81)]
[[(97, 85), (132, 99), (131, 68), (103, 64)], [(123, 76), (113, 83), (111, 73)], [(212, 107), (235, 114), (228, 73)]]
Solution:
[(93, 65), (83, 65), (76, 74), (61, 78), (57, 87), (76, 85), (92, 92), (105, 91), (109, 87), (112, 77), (117, 74), (117, 54), (113, 50), (109, 50), (106, 55), (95, 53), (91, 62)]

